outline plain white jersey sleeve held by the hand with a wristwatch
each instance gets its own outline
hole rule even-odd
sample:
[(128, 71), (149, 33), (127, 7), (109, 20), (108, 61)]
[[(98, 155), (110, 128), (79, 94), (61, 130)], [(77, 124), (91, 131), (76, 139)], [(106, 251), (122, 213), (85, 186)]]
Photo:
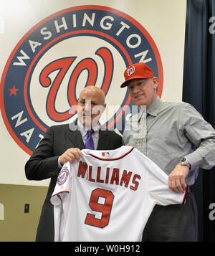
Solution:
[(153, 171), (148, 173), (148, 191), (156, 204), (183, 204), (186, 199), (187, 185), (183, 193), (173, 192), (168, 187), (168, 175), (154, 164)]

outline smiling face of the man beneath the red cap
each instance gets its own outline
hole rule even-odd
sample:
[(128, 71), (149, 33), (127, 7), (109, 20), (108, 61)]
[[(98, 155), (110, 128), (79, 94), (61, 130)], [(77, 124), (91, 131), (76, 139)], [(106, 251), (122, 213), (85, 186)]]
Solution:
[(148, 108), (157, 98), (158, 78), (136, 78), (128, 81), (130, 97), (135, 105)]

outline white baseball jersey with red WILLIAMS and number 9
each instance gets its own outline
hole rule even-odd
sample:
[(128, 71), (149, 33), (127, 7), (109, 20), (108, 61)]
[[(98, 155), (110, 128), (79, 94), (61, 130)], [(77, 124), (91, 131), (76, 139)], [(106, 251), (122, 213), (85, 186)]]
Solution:
[(155, 204), (182, 204), (186, 192), (137, 149), (82, 150), (65, 163), (52, 194), (55, 241), (141, 241)]

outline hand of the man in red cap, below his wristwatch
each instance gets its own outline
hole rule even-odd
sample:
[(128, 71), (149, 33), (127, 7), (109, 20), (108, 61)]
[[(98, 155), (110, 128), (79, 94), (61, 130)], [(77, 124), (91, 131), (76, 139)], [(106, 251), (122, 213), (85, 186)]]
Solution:
[(188, 171), (188, 166), (178, 163), (168, 176), (168, 187), (176, 193), (183, 193), (186, 189), (185, 178)]

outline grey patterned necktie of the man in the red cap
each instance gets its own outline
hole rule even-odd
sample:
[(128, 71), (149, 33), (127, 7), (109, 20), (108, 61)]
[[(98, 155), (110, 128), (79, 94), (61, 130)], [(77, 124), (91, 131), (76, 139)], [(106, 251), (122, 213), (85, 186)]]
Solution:
[(136, 148), (138, 151), (146, 156), (146, 136), (147, 136), (147, 126), (146, 126), (146, 110), (141, 113), (138, 118), (138, 138), (136, 138)]

